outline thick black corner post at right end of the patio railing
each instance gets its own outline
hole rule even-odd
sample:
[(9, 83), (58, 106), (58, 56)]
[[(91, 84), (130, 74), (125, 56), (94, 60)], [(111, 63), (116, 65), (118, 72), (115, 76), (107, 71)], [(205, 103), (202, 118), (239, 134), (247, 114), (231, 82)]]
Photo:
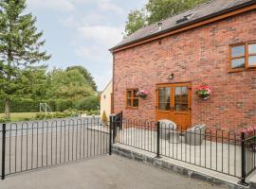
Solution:
[(246, 133), (241, 133), (241, 180), (238, 182), (241, 185), (248, 186), (249, 184), (246, 181), (247, 178), (247, 143), (246, 143)]

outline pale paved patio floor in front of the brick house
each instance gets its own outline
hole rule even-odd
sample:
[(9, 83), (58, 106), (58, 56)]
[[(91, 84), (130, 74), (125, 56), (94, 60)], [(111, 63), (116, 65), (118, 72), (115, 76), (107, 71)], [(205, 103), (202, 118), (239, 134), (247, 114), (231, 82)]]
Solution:
[[(148, 129), (122, 129), (118, 143), (156, 153), (156, 132)], [(225, 141), (224, 141), (225, 142)], [(227, 142), (227, 141), (226, 141)], [(192, 163), (235, 177), (241, 176), (241, 146), (203, 140), (201, 146), (190, 146), (174, 139), (160, 140), (160, 155)]]

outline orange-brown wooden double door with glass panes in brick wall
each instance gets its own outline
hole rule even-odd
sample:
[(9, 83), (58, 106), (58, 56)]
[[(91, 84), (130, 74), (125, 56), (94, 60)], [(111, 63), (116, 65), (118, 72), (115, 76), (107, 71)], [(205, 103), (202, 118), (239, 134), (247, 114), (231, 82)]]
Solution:
[(156, 86), (156, 121), (169, 119), (178, 129), (192, 127), (191, 83), (159, 84)]

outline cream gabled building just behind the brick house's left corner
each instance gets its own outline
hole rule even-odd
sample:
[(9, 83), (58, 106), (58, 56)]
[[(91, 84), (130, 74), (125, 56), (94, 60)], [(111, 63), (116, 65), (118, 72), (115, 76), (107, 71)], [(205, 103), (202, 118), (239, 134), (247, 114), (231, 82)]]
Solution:
[(103, 112), (106, 112), (106, 116), (109, 117), (109, 115), (112, 112), (113, 108), (113, 81), (109, 81), (105, 89), (101, 92), (101, 117)]

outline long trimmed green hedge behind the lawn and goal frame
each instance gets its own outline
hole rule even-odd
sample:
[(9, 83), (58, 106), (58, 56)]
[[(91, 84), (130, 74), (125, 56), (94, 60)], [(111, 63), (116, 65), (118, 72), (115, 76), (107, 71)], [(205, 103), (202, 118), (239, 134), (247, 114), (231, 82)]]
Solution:
[[(47, 103), (52, 112), (64, 112), (68, 109), (77, 109), (79, 111), (96, 111), (99, 106), (99, 99), (97, 96), (88, 96), (83, 98), (82, 100), (12, 100), (10, 102), (10, 112), (40, 112), (40, 103)], [(0, 112), (5, 112), (5, 105), (3, 100), (0, 100)]]

